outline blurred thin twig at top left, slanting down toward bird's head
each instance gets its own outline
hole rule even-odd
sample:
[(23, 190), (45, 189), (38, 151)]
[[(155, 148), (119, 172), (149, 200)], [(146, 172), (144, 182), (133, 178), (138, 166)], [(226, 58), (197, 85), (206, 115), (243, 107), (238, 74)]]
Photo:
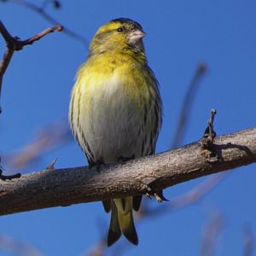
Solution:
[[(41, 15), (44, 18), (44, 20), (49, 21), (50, 24), (53, 24), (53, 25), (61, 24), (61, 22), (59, 22), (58, 20), (55, 20), (55, 18), (53, 18), (51, 15), (49, 15), (45, 11), (45, 7), (47, 6), (47, 4), (46, 4), (47, 1), (44, 2), (41, 7), (39, 7), (35, 3), (28, 2), (26, 0), (5, 0), (4, 2), (16, 3), (16, 4), (19, 4), (19, 5), (23, 6), (23, 7), (25, 7), (26, 9), (30, 9), (33, 12), (37, 13), (38, 15)], [(57, 1), (51, 1), (51, 2), (57, 2)], [(57, 2), (57, 4), (60, 4), (60, 3)], [(55, 4), (55, 6), (56, 6), (56, 4)], [(79, 35), (76, 32), (73, 32), (72, 30), (68, 29), (66, 26), (63, 26), (63, 32), (66, 33), (67, 36), (78, 40), (79, 42), (81, 42), (85, 46), (88, 45), (87, 40), (83, 36)]]

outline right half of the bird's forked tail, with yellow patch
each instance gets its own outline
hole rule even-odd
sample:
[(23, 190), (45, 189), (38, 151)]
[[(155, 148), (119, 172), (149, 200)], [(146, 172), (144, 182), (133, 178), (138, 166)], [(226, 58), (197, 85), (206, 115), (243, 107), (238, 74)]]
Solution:
[(134, 245), (138, 244), (137, 232), (132, 217), (132, 210), (126, 214), (118, 212), (119, 227), (124, 236)]

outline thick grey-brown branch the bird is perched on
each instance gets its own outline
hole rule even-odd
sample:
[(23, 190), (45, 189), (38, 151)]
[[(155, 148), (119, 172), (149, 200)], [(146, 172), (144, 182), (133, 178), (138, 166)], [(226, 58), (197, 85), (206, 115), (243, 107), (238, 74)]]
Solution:
[[(256, 162), (256, 127), (123, 165), (59, 169), (0, 181), (0, 215), (158, 191), (177, 183)], [(149, 191), (149, 192), (153, 192)]]

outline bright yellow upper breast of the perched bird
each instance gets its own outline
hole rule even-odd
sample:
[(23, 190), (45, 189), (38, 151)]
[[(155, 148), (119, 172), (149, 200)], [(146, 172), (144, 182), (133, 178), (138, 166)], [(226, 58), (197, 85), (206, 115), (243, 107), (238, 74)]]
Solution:
[[(149, 97), (150, 84), (147, 67), (129, 55), (97, 55), (79, 69), (76, 87), (89, 97), (111, 96), (119, 90), (140, 108)], [(109, 98), (113, 100), (113, 98)]]

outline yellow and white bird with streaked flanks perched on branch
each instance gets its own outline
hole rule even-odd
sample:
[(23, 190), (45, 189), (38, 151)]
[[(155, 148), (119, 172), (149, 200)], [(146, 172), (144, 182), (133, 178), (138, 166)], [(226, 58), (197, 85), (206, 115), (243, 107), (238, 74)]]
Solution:
[[(135, 20), (118, 18), (101, 26), (73, 85), (69, 123), (89, 166), (114, 164), (154, 154), (162, 123), (159, 83), (148, 66), (146, 33)], [(138, 244), (133, 210), (142, 195), (102, 201), (111, 212), (110, 247), (121, 235)]]

